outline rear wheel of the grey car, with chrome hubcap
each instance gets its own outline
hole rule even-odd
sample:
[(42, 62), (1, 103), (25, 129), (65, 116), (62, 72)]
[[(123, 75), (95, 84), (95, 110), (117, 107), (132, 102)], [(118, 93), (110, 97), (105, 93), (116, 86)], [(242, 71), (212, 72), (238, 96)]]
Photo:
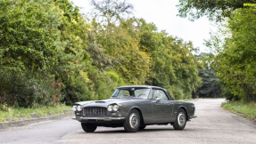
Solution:
[(173, 123), (173, 128), (175, 130), (183, 130), (185, 126), (186, 126), (186, 112), (184, 109), (179, 108), (176, 120)]

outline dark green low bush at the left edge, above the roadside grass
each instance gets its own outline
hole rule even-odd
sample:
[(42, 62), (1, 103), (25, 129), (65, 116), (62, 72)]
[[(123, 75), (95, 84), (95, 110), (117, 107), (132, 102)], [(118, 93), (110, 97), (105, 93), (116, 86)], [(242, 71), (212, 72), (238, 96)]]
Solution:
[[(48, 78), (48, 79), (47, 79)], [(35, 78), (30, 72), (0, 71), (0, 103), (14, 107), (54, 105), (62, 97), (60, 88), (54, 81), (45, 77), (44, 81)]]

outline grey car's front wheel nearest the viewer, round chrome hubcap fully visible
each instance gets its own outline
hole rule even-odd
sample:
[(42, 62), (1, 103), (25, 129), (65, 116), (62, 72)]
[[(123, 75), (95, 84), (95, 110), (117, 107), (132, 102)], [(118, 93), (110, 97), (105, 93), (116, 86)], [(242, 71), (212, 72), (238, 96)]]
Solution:
[(123, 125), (126, 132), (137, 132), (140, 127), (140, 115), (136, 109), (129, 112)]

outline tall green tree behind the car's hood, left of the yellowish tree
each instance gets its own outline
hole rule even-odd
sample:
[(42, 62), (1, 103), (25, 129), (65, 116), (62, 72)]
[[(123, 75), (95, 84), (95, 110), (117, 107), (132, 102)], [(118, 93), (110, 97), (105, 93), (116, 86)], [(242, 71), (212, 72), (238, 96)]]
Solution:
[(83, 19), (78, 7), (68, 0), (55, 0), (54, 3), (62, 10), (59, 63), (53, 69), (56, 81), (63, 84), (65, 97), (62, 101), (72, 104), (109, 98), (112, 87), (116, 88), (119, 82), (102, 72), (101, 67), (111, 63), (111, 57), (103, 54), (102, 45), (96, 43), (98, 33)]

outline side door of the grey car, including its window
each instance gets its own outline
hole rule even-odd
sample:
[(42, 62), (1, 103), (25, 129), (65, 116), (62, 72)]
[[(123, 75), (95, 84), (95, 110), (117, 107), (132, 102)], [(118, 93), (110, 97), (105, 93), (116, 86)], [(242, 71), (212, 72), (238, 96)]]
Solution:
[(170, 121), (173, 112), (173, 101), (169, 100), (166, 92), (161, 89), (153, 89), (152, 107), (155, 122), (166, 123)]

